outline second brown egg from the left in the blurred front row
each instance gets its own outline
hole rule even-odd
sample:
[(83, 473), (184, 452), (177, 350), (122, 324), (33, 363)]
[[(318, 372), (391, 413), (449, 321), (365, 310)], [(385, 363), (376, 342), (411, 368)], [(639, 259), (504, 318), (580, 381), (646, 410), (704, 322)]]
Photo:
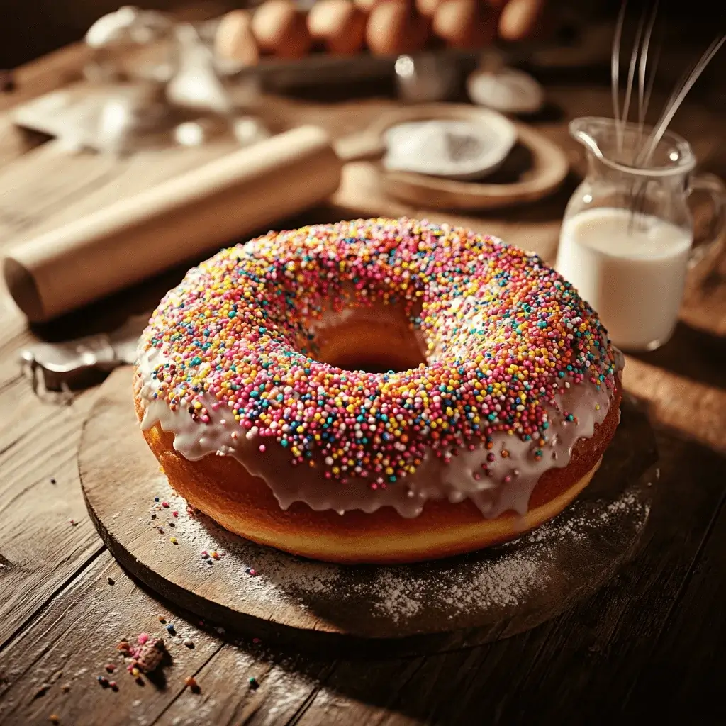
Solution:
[(252, 16), (260, 48), (281, 58), (301, 58), (312, 44), (305, 14), (290, 0), (267, 0)]

